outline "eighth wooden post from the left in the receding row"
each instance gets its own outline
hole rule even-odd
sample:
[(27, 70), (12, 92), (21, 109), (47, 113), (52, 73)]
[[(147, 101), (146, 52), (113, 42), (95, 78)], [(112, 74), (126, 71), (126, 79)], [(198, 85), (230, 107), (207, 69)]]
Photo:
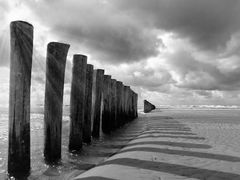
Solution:
[(117, 81), (116, 84), (116, 94), (117, 94), (117, 128), (119, 128), (122, 125), (122, 86), (123, 83), (120, 81)]

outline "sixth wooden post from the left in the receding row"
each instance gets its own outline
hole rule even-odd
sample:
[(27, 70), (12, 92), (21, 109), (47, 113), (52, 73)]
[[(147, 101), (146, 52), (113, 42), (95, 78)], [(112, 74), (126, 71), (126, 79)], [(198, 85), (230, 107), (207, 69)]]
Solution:
[(103, 113), (102, 113), (102, 131), (111, 132), (111, 99), (110, 99), (111, 76), (104, 75), (103, 81)]

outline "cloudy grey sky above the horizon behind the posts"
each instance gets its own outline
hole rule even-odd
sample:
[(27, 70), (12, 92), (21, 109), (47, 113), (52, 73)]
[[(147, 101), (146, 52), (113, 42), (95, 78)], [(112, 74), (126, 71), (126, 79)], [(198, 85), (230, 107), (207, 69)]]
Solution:
[(240, 0), (0, 0), (0, 107), (8, 103), (9, 23), (34, 26), (32, 104), (42, 104), (46, 46), (130, 85), (156, 105), (240, 105)]

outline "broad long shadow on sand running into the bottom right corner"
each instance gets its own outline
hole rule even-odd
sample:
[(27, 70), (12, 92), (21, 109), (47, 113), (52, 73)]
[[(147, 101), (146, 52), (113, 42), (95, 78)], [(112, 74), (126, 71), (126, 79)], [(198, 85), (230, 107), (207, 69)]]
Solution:
[(145, 161), (131, 158), (119, 158), (110, 161), (106, 161), (101, 165), (116, 164), (123, 166), (130, 166), (135, 168), (141, 168), (146, 170), (160, 171), (171, 173), (179, 176), (185, 176), (188, 178), (196, 178), (200, 180), (212, 179), (212, 180), (239, 180), (240, 175), (234, 173), (227, 173), (222, 171), (201, 169), (195, 167), (188, 167), (184, 165), (169, 164), (163, 162)]

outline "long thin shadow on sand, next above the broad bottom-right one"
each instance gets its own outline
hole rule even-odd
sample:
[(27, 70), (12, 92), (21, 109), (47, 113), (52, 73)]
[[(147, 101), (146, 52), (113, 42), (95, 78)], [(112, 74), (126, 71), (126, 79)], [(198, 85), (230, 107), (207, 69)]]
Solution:
[(149, 147), (137, 148), (136, 147), (136, 148), (122, 150), (119, 153), (131, 152), (131, 151), (155, 152), (155, 153), (173, 154), (173, 155), (180, 155), (180, 156), (216, 159), (216, 160), (223, 160), (223, 161), (229, 161), (229, 162), (240, 162), (240, 157), (236, 157), (236, 156), (211, 154), (211, 153), (196, 152), (196, 151), (173, 150), (173, 149), (166, 149), (166, 148), (149, 148)]

